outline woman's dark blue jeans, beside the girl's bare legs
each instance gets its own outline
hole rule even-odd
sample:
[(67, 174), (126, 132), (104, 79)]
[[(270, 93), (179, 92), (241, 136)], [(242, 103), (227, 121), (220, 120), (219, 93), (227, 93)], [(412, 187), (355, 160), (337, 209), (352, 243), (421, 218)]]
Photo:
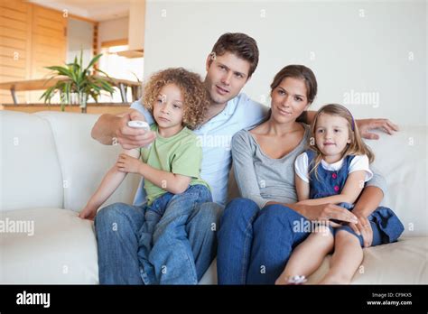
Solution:
[[(311, 229), (304, 227), (308, 223), (308, 219), (283, 205), (259, 209), (250, 199), (230, 201), (220, 218), (218, 233), (219, 284), (274, 284), (294, 247), (311, 234)], [(375, 224), (371, 226), (373, 245), (378, 245), (380, 231)]]

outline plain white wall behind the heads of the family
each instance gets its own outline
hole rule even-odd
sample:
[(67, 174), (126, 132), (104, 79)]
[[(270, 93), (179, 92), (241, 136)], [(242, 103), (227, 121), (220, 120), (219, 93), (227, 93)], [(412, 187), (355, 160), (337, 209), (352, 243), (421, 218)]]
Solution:
[(268, 105), (274, 74), (300, 63), (318, 78), (313, 109), (338, 102), (357, 117), (426, 125), (426, 15), (426, 1), (149, 0), (144, 76), (178, 66), (204, 76), (219, 35), (246, 32), (260, 50), (244, 88), (254, 99)]

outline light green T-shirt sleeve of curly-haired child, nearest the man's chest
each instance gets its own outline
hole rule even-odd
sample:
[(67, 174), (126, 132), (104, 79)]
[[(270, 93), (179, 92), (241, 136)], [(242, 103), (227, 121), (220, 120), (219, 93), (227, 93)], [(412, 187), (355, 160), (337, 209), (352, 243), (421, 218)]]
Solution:
[(171, 171), (192, 178), (200, 177), (200, 164), (202, 162), (202, 148), (197, 141), (190, 141), (181, 145), (173, 158)]

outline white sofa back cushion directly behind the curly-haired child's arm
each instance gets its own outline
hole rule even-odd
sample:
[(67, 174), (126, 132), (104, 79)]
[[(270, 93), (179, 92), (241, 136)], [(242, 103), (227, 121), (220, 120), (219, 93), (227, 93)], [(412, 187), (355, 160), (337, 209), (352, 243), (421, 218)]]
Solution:
[[(92, 139), (91, 128), (99, 115), (49, 111), (34, 115), (42, 117), (51, 125), (65, 183), (63, 208), (80, 211), (115, 164), (121, 147), (103, 145)], [(140, 178), (136, 174), (128, 174), (103, 207), (119, 201), (132, 203)]]

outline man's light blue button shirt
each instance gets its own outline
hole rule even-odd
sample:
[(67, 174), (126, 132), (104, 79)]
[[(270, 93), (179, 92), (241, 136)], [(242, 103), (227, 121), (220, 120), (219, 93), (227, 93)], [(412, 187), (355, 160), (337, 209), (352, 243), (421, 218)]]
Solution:
[[(135, 101), (131, 108), (144, 114), (149, 125), (154, 118), (140, 101)], [(222, 206), (228, 199), (228, 173), (232, 164), (230, 142), (238, 131), (258, 125), (266, 116), (269, 108), (263, 106), (246, 94), (239, 94), (228, 101), (223, 111), (212, 117), (193, 132), (200, 137), (202, 144), (202, 165), (200, 177), (209, 183), (212, 199)], [(134, 204), (141, 205), (145, 201), (143, 180), (138, 187)]]

